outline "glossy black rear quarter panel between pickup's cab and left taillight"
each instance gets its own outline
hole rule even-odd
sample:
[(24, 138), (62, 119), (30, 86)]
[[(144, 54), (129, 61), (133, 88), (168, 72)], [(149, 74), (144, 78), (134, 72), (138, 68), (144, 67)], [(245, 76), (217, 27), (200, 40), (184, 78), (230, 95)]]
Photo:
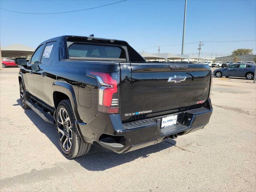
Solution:
[(52, 86), (55, 81), (72, 85), (78, 114), (83, 122), (89, 122), (98, 113), (98, 84), (86, 76), (86, 70), (120, 72), (118, 63), (59, 60), (54, 58), (47, 72), (49, 104), (54, 107)]

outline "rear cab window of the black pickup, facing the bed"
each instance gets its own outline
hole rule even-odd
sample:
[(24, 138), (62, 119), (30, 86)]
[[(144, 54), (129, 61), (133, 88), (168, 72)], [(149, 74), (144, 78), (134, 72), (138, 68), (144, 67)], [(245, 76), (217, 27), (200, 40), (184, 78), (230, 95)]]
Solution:
[(68, 47), (70, 57), (125, 59), (125, 52), (117, 46), (73, 43)]

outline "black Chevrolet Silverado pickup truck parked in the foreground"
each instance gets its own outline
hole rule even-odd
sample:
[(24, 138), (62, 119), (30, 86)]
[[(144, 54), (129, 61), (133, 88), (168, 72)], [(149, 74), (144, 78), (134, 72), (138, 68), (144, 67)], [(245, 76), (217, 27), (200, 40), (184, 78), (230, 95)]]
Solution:
[(125, 41), (60, 36), (16, 63), (22, 107), (56, 124), (68, 158), (91, 145), (126, 153), (174, 139), (212, 114), (208, 64), (146, 62)]

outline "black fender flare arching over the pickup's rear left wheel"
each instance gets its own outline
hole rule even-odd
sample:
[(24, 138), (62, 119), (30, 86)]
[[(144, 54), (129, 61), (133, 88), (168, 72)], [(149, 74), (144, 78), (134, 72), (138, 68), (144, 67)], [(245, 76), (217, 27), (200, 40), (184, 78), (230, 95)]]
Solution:
[[(79, 127), (79, 124), (85, 124), (85, 123), (82, 122), (82, 120), (81, 120), (81, 118), (78, 114), (76, 95), (75, 95), (75, 92), (74, 92), (74, 89), (73, 89), (72, 85), (67, 83), (67, 82), (62, 82), (62, 81), (57, 80), (52, 85), (52, 100), (54, 100), (53, 93), (55, 91), (62, 92), (64, 94), (66, 94), (68, 96), (68, 98), (70, 99), (72, 110), (74, 112), (74, 116), (75, 116), (75, 119), (76, 119), (76, 122), (75, 122), (76, 128), (78, 130), (80, 138), (82, 138), (82, 140), (85, 142), (84, 137), (82, 136), (82, 133), (81, 133), (81, 130), (80, 130), (80, 127)], [(55, 104), (54, 104), (54, 107), (55, 107)], [(54, 116), (55, 116), (55, 113), (56, 113), (56, 108), (55, 108)]]

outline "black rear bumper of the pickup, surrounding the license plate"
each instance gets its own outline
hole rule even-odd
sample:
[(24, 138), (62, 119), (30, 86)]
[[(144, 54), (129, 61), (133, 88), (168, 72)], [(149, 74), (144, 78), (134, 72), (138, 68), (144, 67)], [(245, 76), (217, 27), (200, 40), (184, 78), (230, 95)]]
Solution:
[[(98, 114), (88, 124), (78, 124), (86, 142), (117, 153), (126, 153), (176, 138), (199, 129), (209, 122), (212, 114), (210, 99), (203, 108), (122, 124), (120, 114)], [(177, 115), (177, 124), (161, 127), (163, 117)]]

